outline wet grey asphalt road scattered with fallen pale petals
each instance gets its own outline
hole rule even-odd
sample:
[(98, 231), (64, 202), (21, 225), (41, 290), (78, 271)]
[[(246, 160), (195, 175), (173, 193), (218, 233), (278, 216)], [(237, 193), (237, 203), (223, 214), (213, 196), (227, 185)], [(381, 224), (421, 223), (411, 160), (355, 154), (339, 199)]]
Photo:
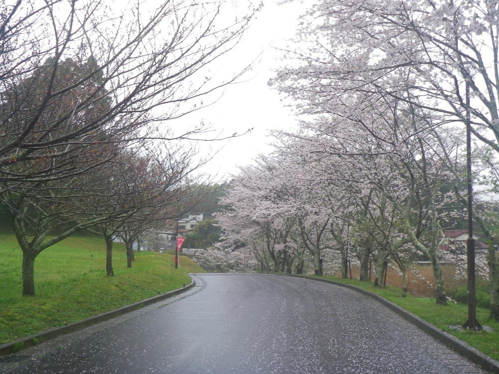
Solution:
[(83, 330), (6, 373), (483, 373), (346, 288), (257, 274), (195, 280), (163, 306)]

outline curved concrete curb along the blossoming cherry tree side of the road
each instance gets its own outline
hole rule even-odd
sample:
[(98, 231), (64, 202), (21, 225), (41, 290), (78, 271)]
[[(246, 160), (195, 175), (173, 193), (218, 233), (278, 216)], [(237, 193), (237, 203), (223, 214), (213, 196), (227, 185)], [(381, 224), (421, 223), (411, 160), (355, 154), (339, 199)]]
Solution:
[(442, 331), (435, 326), (429, 324), (428, 322), (422, 320), (418, 316), (406, 311), (405, 309), (402, 309), (398, 305), (392, 303), (391, 301), (386, 300), (385, 298), (373, 294), (372, 292), (363, 290), (362, 288), (358, 288), (349, 284), (341, 283), (341, 282), (335, 282), (332, 280), (328, 279), (323, 279), (323, 278), (316, 278), (316, 277), (309, 277), (306, 275), (297, 275), (297, 274), (283, 274), (291, 277), (300, 277), (300, 278), (307, 278), (307, 279), (312, 279), (316, 280), (319, 282), (325, 282), (325, 283), (331, 283), (340, 287), (345, 287), (349, 288), (353, 291), (359, 292), (361, 294), (367, 295), (376, 301), (379, 301), (381, 304), (386, 306), (387, 308), (391, 309), (401, 317), (403, 317), (405, 320), (409, 321), (413, 325), (416, 325), (418, 328), (423, 330), (425, 333), (431, 335), (433, 338), (437, 339), (438, 341), (442, 342), (445, 344), (447, 347), (452, 349), (453, 351), (457, 352), (461, 356), (467, 358), (470, 360), (472, 363), (475, 365), (478, 365), (482, 369), (490, 372), (490, 373), (496, 373), (499, 374), (499, 362), (494, 360), (493, 358), (484, 355), (482, 352), (478, 351), (477, 349), (471, 347), (470, 345), (466, 344), (465, 342), (455, 338), (451, 334), (446, 333), (445, 331)]

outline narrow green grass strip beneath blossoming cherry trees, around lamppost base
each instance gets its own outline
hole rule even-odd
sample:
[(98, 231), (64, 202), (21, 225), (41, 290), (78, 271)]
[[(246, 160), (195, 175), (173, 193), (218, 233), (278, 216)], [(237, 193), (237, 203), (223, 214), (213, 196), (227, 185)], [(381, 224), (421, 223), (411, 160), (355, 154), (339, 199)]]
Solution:
[(351, 284), (380, 295), (439, 329), (468, 343), (487, 356), (499, 360), (499, 323), (489, 318), (488, 309), (477, 308), (477, 319), (482, 326), (492, 328), (492, 332), (455, 330), (450, 329), (449, 326), (460, 326), (468, 320), (468, 306), (465, 304), (450, 302), (447, 306), (436, 305), (435, 299), (432, 298), (402, 297), (402, 291), (396, 287), (374, 287), (372, 282), (361, 282), (358, 279), (342, 279), (333, 276), (323, 276), (321, 278)]

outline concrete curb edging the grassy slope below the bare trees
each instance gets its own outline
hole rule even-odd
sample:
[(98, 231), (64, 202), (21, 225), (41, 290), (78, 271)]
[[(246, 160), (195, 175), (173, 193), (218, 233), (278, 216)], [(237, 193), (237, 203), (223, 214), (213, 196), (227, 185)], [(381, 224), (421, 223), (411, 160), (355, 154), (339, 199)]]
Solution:
[(0, 345), (0, 356), (10, 355), (10, 354), (18, 351), (19, 349), (32, 347), (32, 346), (34, 346), (38, 343), (41, 343), (43, 341), (56, 338), (60, 335), (72, 333), (72, 332), (77, 331), (77, 330), (81, 330), (85, 327), (95, 325), (99, 322), (104, 322), (104, 321), (109, 320), (111, 318), (118, 317), (118, 316), (121, 316), (125, 313), (131, 312), (133, 310), (140, 309), (142, 307), (145, 307), (146, 305), (150, 305), (150, 304), (156, 303), (158, 301), (168, 299), (172, 296), (176, 296), (178, 294), (181, 294), (181, 293), (193, 288), (194, 285), (195, 285), (195, 282), (193, 279), (191, 279), (191, 283), (189, 285), (184, 286), (182, 288), (179, 288), (178, 290), (173, 290), (173, 291), (167, 292), (166, 294), (163, 294), (163, 295), (151, 297), (150, 299), (142, 300), (142, 301), (139, 301), (138, 303), (135, 303), (135, 304), (131, 304), (131, 305), (127, 305), (127, 306), (122, 307), (122, 308), (114, 309), (112, 311), (105, 312), (105, 313), (99, 314), (97, 316), (93, 316), (93, 317), (84, 319), (82, 321), (73, 322), (73, 323), (70, 323), (68, 325), (61, 326), (61, 327), (54, 327), (53, 329), (45, 330), (45, 331), (38, 333), (38, 334), (30, 335), (30, 336), (27, 336), (25, 338), (20, 338), (20, 339), (14, 340), (12, 342), (1, 344)]

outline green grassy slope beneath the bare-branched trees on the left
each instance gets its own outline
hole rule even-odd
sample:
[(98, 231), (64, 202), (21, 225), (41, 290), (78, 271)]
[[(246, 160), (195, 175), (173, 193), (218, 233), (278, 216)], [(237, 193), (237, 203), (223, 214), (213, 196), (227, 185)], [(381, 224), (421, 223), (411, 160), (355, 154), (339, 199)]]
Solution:
[(135, 253), (126, 267), (123, 246), (113, 246), (114, 277), (105, 271), (100, 237), (73, 236), (35, 260), (34, 297), (21, 297), (22, 253), (12, 234), (0, 233), (0, 344), (132, 304), (189, 284), (186, 273), (204, 272), (187, 257)]

